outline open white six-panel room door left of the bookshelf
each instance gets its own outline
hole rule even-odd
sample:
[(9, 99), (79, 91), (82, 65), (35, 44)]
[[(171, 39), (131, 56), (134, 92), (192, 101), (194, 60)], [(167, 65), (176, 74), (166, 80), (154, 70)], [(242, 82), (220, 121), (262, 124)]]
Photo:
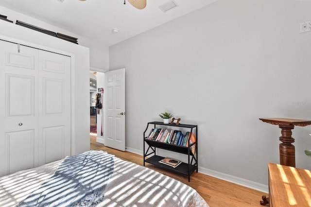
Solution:
[(125, 151), (125, 69), (105, 72), (104, 85), (104, 145)]

